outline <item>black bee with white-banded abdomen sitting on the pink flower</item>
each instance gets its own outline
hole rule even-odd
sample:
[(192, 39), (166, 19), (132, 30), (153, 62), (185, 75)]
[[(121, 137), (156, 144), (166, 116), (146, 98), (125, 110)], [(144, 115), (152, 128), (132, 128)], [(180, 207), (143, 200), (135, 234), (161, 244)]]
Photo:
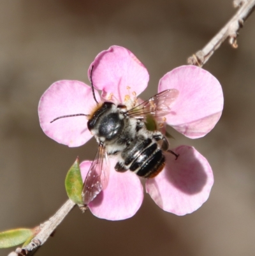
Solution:
[[(93, 66), (92, 66), (93, 69)], [(103, 102), (99, 105), (92, 94), (98, 108), (91, 114), (73, 114), (62, 117), (89, 116), (87, 127), (98, 142), (98, 151), (84, 181), (82, 197), (84, 204), (91, 202), (108, 184), (108, 156), (115, 155), (118, 161), (117, 172), (130, 170), (139, 177), (155, 177), (165, 165), (165, 152), (170, 152), (166, 137), (159, 130), (149, 130), (147, 117), (162, 117), (169, 113), (170, 105), (179, 95), (177, 89), (162, 91), (149, 100), (128, 109), (126, 105)]]

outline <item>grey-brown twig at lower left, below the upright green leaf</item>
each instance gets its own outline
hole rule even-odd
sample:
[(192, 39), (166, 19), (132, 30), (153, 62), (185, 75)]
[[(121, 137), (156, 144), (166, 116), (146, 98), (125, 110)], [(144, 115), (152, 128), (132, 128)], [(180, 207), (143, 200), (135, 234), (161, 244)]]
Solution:
[[(29, 245), (23, 248), (17, 248), (15, 252), (11, 252), (8, 256), (13, 255), (32, 255), (39, 246), (43, 245), (48, 237), (54, 232), (57, 226), (64, 220), (66, 215), (68, 215), (69, 211), (73, 209), (75, 203), (70, 199), (66, 201), (66, 203), (55, 213), (52, 218), (47, 220), (47, 222), (40, 225), (40, 232), (32, 239)], [(16, 253), (16, 254), (15, 254)]]

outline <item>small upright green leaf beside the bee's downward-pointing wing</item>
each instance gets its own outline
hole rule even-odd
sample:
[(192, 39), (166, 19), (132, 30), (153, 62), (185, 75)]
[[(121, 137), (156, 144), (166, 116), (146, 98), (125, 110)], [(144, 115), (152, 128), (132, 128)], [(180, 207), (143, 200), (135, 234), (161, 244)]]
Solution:
[(82, 175), (80, 174), (80, 165), (78, 158), (73, 163), (72, 167), (68, 170), (66, 174), (66, 193), (68, 193), (69, 199), (71, 199), (75, 204), (83, 204), (82, 201)]

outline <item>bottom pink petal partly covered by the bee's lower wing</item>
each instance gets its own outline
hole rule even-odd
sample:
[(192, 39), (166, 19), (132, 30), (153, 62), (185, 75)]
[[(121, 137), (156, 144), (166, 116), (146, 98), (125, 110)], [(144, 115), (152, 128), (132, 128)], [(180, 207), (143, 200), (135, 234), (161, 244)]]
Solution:
[[(110, 165), (116, 161), (110, 159)], [(85, 180), (91, 162), (80, 163)], [(132, 172), (110, 170), (109, 183), (105, 190), (89, 203), (93, 215), (106, 220), (124, 220), (135, 215), (143, 201), (143, 186), (138, 176)]]

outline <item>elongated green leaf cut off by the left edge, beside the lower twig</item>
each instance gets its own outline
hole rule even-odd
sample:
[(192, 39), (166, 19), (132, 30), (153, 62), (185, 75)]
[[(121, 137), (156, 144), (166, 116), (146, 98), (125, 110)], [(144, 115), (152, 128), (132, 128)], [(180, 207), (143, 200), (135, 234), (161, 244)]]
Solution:
[(0, 248), (17, 246), (34, 236), (33, 229), (11, 229), (0, 232)]

